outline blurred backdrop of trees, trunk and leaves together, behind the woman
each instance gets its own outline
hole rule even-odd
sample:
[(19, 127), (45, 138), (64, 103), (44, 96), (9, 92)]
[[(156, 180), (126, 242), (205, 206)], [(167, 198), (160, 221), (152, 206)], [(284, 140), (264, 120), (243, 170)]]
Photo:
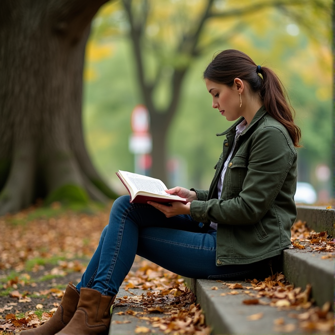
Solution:
[[(88, 80), (86, 91), (88, 141), (100, 169), (107, 174), (118, 168), (132, 169), (127, 153), (129, 119), (134, 105), (144, 103), (153, 135), (151, 175), (168, 180), (167, 156), (175, 155), (179, 172), (187, 162), (188, 180), (170, 177), (170, 186), (182, 182), (183, 186), (207, 187), (213, 173), (208, 166), (214, 166), (222, 145), (215, 133), (228, 123), (210, 112), (201, 73), (214, 52), (236, 48), (256, 63), (268, 60), (267, 65), (289, 86), (305, 148), (299, 155), (300, 179), (309, 179), (315, 164), (329, 165), (331, 157), (331, 9), (330, 0), (122, 0), (106, 4), (94, 21), (88, 53), (87, 74), (91, 79), (100, 76)], [(90, 54), (99, 54), (102, 46), (109, 46), (111, 55), (93, 64)], [(106, 96), (98, 102), (102, 87)], [(111, 115), (114, 126), (107, 121)], [(103, 144), (97, 143), (98, 138)]]

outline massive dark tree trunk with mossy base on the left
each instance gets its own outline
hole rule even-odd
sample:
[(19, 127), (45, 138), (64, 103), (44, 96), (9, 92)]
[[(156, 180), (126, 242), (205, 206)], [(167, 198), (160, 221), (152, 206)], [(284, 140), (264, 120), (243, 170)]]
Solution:
[(104, 2), (1, 1), (0, 215), (36, 198), (113, 196), (89, 159), (81, 119), (85, 45)]

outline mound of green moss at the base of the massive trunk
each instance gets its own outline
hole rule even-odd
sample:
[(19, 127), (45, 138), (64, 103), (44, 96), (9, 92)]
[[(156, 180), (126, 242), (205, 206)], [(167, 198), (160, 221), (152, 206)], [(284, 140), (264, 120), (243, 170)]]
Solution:
[(49, 194), (45, 200), (45, 204), (49, 205), (55, 201), (65, 204), (77, 203), (87, 205), (89, 197), (86, 191), (77, 185), (64, 185)]

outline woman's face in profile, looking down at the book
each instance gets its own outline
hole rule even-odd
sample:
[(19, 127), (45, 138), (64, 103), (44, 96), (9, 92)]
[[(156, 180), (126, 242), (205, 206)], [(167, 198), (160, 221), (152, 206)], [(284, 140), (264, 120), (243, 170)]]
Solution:
[(240, 100), (236, 84), (229, 87), (215, 83), (207, 78), (205, 78), (205, 83), (208, 92), (213, 97), (213, 108), (217, 108), (228, 121), (235, 121), (242, 116), (243, 108), (239, 106)]

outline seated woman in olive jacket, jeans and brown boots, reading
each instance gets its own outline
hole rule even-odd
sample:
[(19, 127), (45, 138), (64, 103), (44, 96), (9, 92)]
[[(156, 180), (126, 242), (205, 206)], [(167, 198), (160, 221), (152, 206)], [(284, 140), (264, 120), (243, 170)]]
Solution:
[(110, 307), (135, 254), (191, 278), (271, 274), (288, 248), (301, 136), (282, 85), (267, 67), (225, 50), (205, 69), (213, 108), (232, 127), (209, 191), (167, 190), (189, 201), (166, 206), (117, 199), (80, 283), (67, 286), (55, 315), (26, 335), (105, 334)]

